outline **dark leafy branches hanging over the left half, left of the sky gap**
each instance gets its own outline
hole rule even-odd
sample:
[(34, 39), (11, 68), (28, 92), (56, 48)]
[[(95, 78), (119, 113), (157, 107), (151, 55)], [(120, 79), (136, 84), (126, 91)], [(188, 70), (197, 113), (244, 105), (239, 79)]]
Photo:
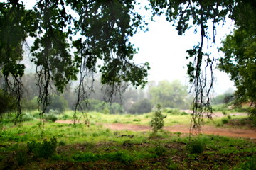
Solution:
[[(133, 0), (43, 0), (36, 1), (33, 10), (26, 10), (18, 0), (1, 2), (0, 70), (5, 77), (4, 88), (9, 87), (9, 91), (16, 94), (18, 114), (21, 115), (23, 92), (20, 77), (25, 68), (19, 62), (28, 35), (36, 39), (30, 51), (31, 60), (36, 64), (41, 115), (49, 105), (50, 87), (54, 85), (63, 92), (69, 81), (78, 79), (78, 73), (80, 84), (75, 111), (87, 97), (83, 91), (84, 79), (97, 70), (110, 94), (122, 81), (144, 86), (149, 64), (133, 62), (136, 49), (129, 42), (143, 22), (142, 16), (133, 10), (135, 4)], [(67, 6), (79, 17), (71, 16)], [(74, 35), (78, 38), (74, 39)], [(73, 54), (71, 48), (75, 49)], [(102, 64), (98, 64), (99, 60)]]

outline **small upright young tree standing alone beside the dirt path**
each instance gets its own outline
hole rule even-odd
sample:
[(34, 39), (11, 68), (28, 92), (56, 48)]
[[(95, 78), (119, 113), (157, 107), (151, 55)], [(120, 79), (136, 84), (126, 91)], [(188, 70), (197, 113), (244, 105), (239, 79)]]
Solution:
[(156, 111), (154, 112), (153, 118), (149, 122), (149, 125), (152, 127), (152, 130), (156, 133), (157, 130), (161, 130), (164, 127), (164, 118), (167, 115), (161, 113), (161, 105), (157, 104)]

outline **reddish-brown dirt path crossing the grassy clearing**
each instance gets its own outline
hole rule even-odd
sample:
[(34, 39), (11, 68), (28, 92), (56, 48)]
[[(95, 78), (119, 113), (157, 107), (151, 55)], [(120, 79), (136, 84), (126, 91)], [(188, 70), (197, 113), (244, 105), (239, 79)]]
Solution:
[[(57, 120), (56, 123), (73, 123), (72, 120)], [(124, 123), (104, 123), (102, 124), (105, 128), (110, 130), (132, 130), (132, 131), (148, 131), (151, 130), (149, 125), (134, 125)], [(164, 127), (164, 130), (169, 132), (181, 132), (188, 134), (189, 125), (172, 125)], [(256, 140), (256, 129), (243, 129), (243, 128), (218, 128), (210, 125), (204, 125), (202, 132), (206, 135), (220, 135), (227, 137), (244, 137)]]

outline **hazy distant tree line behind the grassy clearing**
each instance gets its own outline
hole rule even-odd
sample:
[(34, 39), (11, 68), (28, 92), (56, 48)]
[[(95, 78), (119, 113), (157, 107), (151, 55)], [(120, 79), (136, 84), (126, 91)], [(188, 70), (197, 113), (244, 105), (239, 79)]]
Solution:
[[(23, 108), (33, 110), (38, 108), (38, 89), (35, 81), (35, 74), (25, 74), (22, 77), (23, 84), (26, 88), (23, 98)], [(76, 86), (69, 84), (65, 87), (63, 94), (53, 93), (50, 96), (50, 103), (46, 113), (50, 110), (63, 113), (68, 109), (75, 109)], [(87, 89), (89, 93), (91, 89)], [(54, 92), (54, 89), (53, 89)], [(97, 111), (102, 113), (132, 113), (141, 114), (149, 113), (156, 103), (161, 104), (164, 108), (189, 108), (191, 96), (188, 95), (186, 86), (181, 81), (175, 80), (150, 81), (144, 89), (127, 88), (123, 94), (112, 96), (112, 102), (106, 102), (105, 89), (99, 79), (93, 81), (92, 92), (87, 101), (82, 101), (81, 105), (85, 111)]]

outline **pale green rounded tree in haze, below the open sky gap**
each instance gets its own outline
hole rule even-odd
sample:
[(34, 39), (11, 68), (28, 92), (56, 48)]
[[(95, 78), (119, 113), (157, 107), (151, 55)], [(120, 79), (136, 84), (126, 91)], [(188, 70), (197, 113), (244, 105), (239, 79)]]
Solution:
[(188, 107), (186, 106), (187, 88), (181, 84), (181, 81), (160, 81), (157, 86), (150, 89), (149, 93), (152, 103), (159, 103), (164, 108)]

